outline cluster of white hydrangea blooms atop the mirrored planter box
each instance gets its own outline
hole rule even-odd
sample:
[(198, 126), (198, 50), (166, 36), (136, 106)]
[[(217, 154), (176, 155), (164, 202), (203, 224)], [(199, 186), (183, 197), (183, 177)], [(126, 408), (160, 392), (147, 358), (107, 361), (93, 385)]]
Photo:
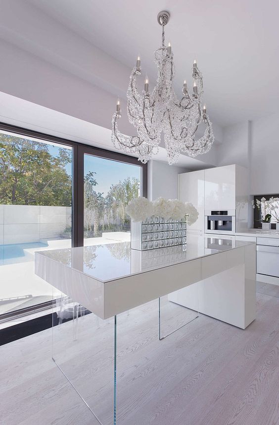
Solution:
[(152, 215), (174, 220), (180, 220), (186, 216), (187, 224), (191, 225), (198, 218), (198, 211), (190, 202), (162, 197), (153, 202), (141, 196), (132, 199), (126, 207), (126, 212), (136, 222), (144, 221)]

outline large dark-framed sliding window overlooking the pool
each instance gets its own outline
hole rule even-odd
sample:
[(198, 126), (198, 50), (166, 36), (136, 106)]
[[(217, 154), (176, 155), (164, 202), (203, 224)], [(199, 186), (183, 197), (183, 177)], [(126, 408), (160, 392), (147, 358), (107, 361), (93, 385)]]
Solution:
[(52, 303), (35, 251), (129, 241), (125, 207), (146, 189), (136, 158), (0, 125), (0, 322)]

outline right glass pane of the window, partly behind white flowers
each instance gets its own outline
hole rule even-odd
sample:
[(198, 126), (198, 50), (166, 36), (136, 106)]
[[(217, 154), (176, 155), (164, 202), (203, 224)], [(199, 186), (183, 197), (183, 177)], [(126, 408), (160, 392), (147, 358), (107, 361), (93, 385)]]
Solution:
[(130, 241), (125, 207), (140, 193), (140, 166), (85, 154), (84, 244)]

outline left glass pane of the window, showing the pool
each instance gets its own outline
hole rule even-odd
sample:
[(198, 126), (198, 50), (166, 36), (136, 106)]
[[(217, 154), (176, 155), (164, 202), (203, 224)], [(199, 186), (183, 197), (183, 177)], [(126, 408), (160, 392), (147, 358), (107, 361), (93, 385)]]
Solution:
[(0, 317), (51, 302), (37, 250), (72, 240), (72, 148), (0, 132)]

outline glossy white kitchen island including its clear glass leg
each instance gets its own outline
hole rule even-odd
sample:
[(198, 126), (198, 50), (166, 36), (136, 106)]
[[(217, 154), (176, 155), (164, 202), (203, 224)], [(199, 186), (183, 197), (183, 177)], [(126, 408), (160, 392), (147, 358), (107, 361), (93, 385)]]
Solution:
[[(242, 329), (255, 319), (255, 254), (255, 243), (195, 235), (187, 237), (186, 245), (147, 251), (112, 243), (35, 254), (36, 274), (62, 292), (54, 314), (61, 318), (74, 300), (74, 331), (69, 321), (53, 327), (52, 357), (98, 423), (128, 424), (127, 409), (136, 396), (137, 404), (144, 397), (143, 372), (138, 384), (139, 366), (126, 356), (134, 355), (142, 335), (149, 332), (141, 327), (137, 333), (140, 321), (155, 309), (159, 320), (152, 338), (157, 332), (158, 341), (177, 329), (186, 332), (183, 325), (198, 315), (189, 318), (192, 309)], [(93, 314), (81, 318), (84, 308)], [(128, 350), (131, 340), (133, 348)], [(163, 346), (159, 341), (157, 354)], [(78, 364), (70, 362), (73, 352)], [(125, 382), (131, 369), (137, 379), (135, 375)]]

